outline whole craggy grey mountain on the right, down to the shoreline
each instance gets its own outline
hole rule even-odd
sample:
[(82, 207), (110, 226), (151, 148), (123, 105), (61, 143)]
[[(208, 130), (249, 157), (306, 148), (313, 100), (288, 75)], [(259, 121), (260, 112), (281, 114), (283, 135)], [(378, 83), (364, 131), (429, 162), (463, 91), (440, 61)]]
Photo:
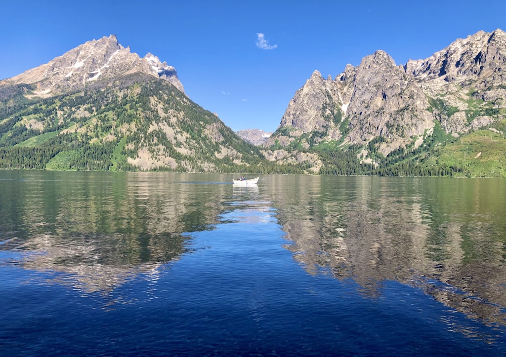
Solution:
[[(272, 152), (264, 154), (280, 162), (296, 159), (316, 173), (384, 169), (379, 173), (400, 174), (391, 169), (404, 165), (412, 174), (415, 167), (427, 168), (424, 161), (429, 156), (447, 154), (445, 150), (457, 147), (468, 135), (474, 133), (482, 141), (483, 135), (476, 134), (481, 129), (504, 139), (504, 69), (506, 33), (497, 29), (457, 39), (429, 58), (405, 65), (376, 51), (356, 67), (348, 64), (334, 79), (314, 71), (263, 145)], [(334, 170), (337, 156), (346, 157), (338, 166), (347, 166), (349, 172)], [(452, 173), (464, 172), (463, 166), (469, 165), (474, 164), (462, 160), (437, 164)]]

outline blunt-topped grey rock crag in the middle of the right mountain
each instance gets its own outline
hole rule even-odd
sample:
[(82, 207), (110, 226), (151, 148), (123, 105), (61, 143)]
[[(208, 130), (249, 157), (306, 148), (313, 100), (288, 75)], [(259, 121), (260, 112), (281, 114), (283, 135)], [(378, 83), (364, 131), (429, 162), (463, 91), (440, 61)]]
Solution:
[(384, 137), (383, 152), (406, 145), (434, 125), (429, 102), (413, 75), (397, 66), (387, 53), (376, 51), (357, 67), (347, 111), (347, 140), (365, 144)]

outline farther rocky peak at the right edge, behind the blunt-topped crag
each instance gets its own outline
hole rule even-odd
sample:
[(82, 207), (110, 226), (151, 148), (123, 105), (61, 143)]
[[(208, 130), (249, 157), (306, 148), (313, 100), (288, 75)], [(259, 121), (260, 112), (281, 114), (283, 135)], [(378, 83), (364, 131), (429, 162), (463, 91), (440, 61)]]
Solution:
[(404, 66), (433, 100), (433, 116), (454, 135), (497, 121), (506, 106), (506, 33), (479, 31)]

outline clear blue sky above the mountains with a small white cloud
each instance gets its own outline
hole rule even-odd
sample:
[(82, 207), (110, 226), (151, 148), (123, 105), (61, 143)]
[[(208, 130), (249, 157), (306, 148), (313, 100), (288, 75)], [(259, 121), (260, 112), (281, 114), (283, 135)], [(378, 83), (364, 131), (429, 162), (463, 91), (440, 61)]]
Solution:
[(174, 66), (186, 94), (233, 130), (274, 131), (314, 70), (334, 78), (376, 50), (404, 64), (496, 28), (506, 30), (504, 0), (19, 0), (0, 7), (0, 78), (116, 34)]

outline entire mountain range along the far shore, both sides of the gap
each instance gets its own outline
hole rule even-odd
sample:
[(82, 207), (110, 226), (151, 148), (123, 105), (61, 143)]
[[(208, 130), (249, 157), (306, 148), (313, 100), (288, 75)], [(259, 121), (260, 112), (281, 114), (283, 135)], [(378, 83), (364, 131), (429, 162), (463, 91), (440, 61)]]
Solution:
[(506, 177), (504, 70), (500, 29), (404, 65), (376, 51), (314, 71), (272, 135), (234, 133), (110, 35), (0, 81), (0, 168)]

